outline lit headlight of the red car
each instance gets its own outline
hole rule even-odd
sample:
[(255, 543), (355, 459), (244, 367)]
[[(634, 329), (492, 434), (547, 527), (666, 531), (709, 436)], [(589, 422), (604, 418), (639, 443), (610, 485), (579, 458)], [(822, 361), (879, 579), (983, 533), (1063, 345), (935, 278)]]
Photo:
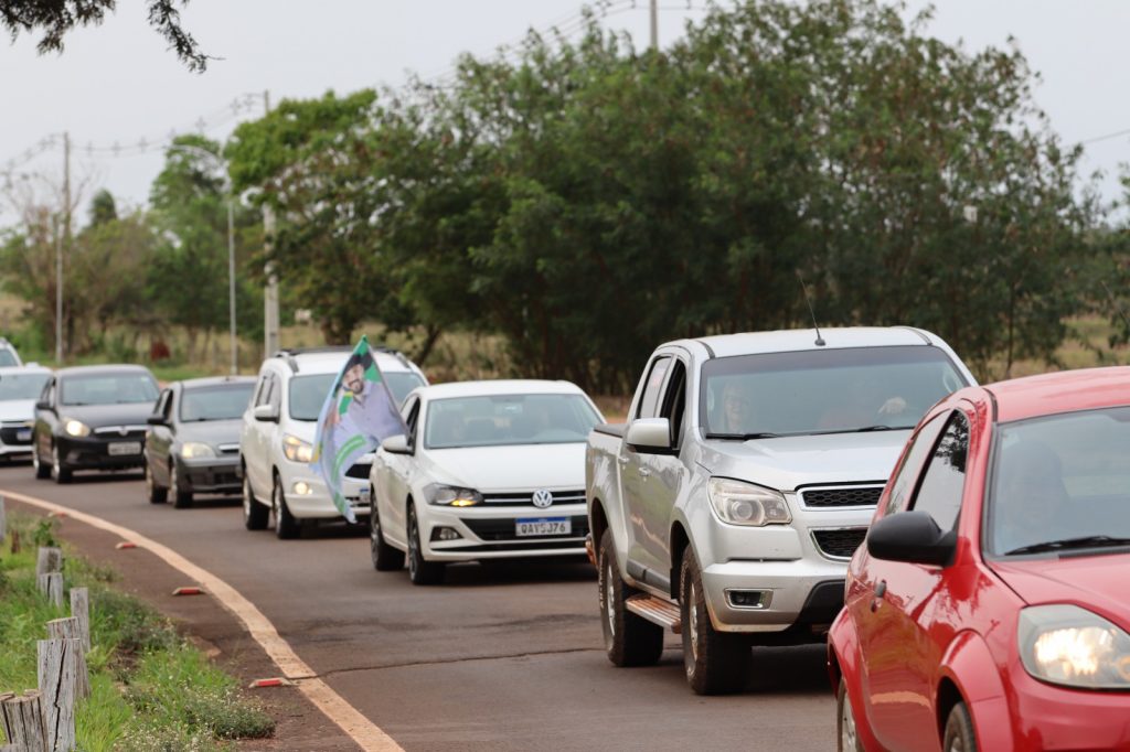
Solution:
[(1130, 635), (1075, 605), (1031, 606), (1017, 629), (1029, 674), (1081, 689), (1130, 688)]

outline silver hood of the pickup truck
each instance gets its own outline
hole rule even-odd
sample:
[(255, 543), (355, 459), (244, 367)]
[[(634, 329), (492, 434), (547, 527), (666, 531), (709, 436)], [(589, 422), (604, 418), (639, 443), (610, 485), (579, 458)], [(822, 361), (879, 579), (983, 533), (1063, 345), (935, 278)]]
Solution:
[(706, 440), (698, 464), (714, 475), (782, 491), (812, 483), (886, 483), (910, 429), (868, 434)]

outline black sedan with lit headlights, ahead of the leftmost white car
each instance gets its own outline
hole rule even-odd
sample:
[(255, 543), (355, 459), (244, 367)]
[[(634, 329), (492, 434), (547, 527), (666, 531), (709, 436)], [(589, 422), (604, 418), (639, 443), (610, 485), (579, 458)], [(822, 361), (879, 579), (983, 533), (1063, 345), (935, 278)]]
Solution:
[(146, 419), (157, 392), (157, 381), (144, 366), (58, 370), (35, 403), (35, 476), (68, 483), (76, 470), (140, 467)]

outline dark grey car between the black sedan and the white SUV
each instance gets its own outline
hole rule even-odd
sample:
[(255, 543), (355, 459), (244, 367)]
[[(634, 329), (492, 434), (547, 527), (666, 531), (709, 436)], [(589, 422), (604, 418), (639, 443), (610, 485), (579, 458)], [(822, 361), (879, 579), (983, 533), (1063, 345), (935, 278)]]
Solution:
[(252, 376), (193, 378), (169, 384), (149, 416), (145, 444), (146, 493), (153, 504), (173, 496), (177, 508), (193, 493), (240, 493), (240, 426), (255, 388)]

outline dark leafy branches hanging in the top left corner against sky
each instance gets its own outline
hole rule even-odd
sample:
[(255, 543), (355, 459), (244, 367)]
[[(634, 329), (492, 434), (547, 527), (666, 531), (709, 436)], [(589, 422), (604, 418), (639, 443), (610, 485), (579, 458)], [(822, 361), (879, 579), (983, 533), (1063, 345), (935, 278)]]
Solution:
[[(189, 0), (146, 0), (149, 25), (159, 33), (191, 71), (203, 72), (209, 56), (181, 26), (177, 5)], [(20, 33), (42, 33), (36, 47), (41, 54), (62, 52), (63, 37), (78, 26), (101, 24), (118, 0), (0, 0), (0, 25), (15, 40)]]

